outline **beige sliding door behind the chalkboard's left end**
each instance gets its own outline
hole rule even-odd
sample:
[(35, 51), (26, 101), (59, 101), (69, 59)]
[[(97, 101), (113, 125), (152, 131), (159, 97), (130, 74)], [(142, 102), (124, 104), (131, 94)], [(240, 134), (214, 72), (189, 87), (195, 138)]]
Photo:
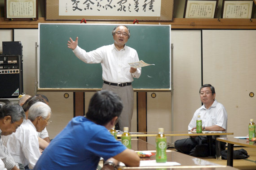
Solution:
[[(23, 54), (23, 86), (24, 92), (34, 95), (35, 86), (35, 42), (38, 42), (37, 29), (14, 30), (14, 41), (22, 43)], [(64, 92), (38, 92), (49, 98), (53, 121), (47, 127), (49, 137), (54, 138), (73, 118), (73, 93), (64, 98)]]

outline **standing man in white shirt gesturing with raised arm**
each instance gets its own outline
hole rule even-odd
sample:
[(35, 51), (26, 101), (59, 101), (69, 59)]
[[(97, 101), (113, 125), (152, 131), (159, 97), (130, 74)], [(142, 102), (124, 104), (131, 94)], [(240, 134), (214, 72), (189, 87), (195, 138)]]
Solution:
[(133, 78), (141, 76), (141, 68), (132, 68), (128, 63), (139, 61), (137, 51), (125, 45), (130, 38), (127, 26), (116, 26), (112, 30), (114, 44), (86, 52), (78, 46), (78, 37), (75, 41), (70, 38), (68, 48), (71, 48), (79, 59), (88, 64), (101, 63), (102, 89), (118, 93), (124, 109), (119, 116), (120, 130), (124, 127), (131, 129), (133, 113)]

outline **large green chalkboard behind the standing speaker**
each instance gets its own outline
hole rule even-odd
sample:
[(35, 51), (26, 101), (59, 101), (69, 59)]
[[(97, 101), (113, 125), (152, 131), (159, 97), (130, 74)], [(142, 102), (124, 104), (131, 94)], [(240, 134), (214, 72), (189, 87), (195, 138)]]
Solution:
[[(116, 25), (39, 24), (38, 89), (100, 89), (100, 64), (86, 64), (67, 48), (71, 37), (86, 51), (113, 44), (111, 31)], [(127, 46), (137, 50), (143, 67), (134, 89), (170, 89), (171, 26), (127, 25), (131, 37)]]

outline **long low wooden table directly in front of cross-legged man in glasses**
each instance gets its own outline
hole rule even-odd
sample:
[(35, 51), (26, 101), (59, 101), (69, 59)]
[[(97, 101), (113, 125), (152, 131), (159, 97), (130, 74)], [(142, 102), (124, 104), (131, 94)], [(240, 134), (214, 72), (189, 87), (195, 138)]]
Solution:
[[(141, 137), (141, 136), (146, 136), (146, 137), (155, 137), (157, 136), (158, 132), (139, 132), (143, 134), (131, 134), (132, 137)], [(192, 133), (190, 131), (183, 131), (183, 132), (164, 132), (165, 136), (207, 136), (207, 142), (208, 142), (208, 148), (209, 148), (209, 155), (210, 156), (215, 156), (213, 155), (213, 147), (212, 147), (212, 136), (214, 136), (214, 139), (217, 137), (220, 137), (221, 135), (234, 135), (233, 132), (224, 132), (224, 133)], [(118, 137), (121, 137), (121, 134), (117, 135)], [(216, 143), (216, 156), (220, 157), (221, 156), (221, 150), (220, 150), (221, 144), (220, 142)]]

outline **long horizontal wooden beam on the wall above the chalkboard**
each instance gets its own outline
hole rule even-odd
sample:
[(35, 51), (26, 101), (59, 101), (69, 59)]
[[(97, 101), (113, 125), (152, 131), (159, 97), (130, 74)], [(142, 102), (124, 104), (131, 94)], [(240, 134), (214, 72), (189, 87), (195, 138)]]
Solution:
[[(77, 23), (80, 21), (45, 21), (40, 17), (37, 21), (5, 21), (0, 18), (0, 28), (38, 28), (38, 23)], [(99, 24), (132, 24), (132, 21), (87, 21), (87, 23)], [(172, 25), (172, 29), (256, 29), (256, 19), (192, 19), (173, 18), (171, 22), (139, 21), (139, 24)]]

